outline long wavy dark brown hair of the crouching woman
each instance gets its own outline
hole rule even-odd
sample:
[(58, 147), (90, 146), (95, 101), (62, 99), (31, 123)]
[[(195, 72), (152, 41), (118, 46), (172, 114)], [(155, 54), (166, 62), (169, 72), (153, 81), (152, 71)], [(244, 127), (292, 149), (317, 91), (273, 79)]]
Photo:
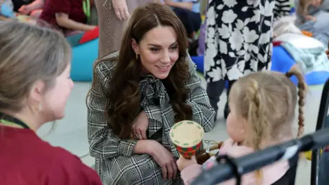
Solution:
[(186, 30), (180, 19), (167, 5), (149, 3), (132, 12), (123, 34), (116, 68), (108, 84), (108, 92), (106, 92), (106, 96), (110, 100), (106, 108), (108, 125), (112, 128), (114, 134), (117, 134), (120, 138), (130, 136), (132, 122), (137, 114), (141, 112), (139, 82), (142, 64), (141, 60), (136, 59), (136, 53), (132, 48), (132, 39), (139, 44), (149, 30), (159, 26), (173, 27), (178, 36), (180, 57), (175, 62), (169, 76), (162, 79), (169, 95), (170, 104), (177, 113), (175, 121), (191, 119), (192, 108), (185, 103), (189, 93), (185, 86), (189, 75), (186, 60), (188, 47)]

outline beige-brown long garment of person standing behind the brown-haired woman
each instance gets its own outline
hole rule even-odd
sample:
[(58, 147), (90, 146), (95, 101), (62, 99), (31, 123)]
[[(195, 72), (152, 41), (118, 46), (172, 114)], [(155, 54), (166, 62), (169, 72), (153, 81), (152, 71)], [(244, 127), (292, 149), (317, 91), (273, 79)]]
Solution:
[[(159, 0), (122, 0), (127, 2), (129, 13), (135, 10), (138, 6), (145, 3)], [(96, 0), (95, 1), (98, 20), (99, 20), (99, 58), (108, 55), (114, 51), (119, 51), (123, 29), (126, 21), (120, 21), (117, 18), (112, 0)]]

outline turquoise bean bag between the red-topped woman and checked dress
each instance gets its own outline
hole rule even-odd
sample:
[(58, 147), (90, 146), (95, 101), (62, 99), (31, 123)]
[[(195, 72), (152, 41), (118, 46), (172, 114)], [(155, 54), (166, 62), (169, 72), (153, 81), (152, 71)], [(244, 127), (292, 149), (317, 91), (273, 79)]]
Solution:
[(91, 82), (93, 64), (98, 57), (98, 38), (72, 47), (71, 78), (73, 81)]

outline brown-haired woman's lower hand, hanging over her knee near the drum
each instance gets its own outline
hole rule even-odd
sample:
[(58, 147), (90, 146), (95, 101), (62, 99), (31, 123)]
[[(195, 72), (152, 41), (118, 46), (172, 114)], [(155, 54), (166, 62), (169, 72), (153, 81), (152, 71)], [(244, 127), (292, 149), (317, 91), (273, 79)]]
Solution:
[(150, 147), (152, 149), (151, 156), (161, 167), (163, 178), (168, 180), (175, 179), (177, 166), (173, 154), (156, 140), (151, 143)]

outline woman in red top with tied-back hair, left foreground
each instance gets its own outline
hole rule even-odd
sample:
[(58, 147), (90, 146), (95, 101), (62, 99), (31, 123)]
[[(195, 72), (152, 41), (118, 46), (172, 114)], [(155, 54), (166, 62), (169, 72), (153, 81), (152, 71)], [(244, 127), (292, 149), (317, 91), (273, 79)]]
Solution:
[(0, 22), (0, 184), (101, 185), (97, 173), (36, 132), (64, 117), (71, 47), (62, 34)]

